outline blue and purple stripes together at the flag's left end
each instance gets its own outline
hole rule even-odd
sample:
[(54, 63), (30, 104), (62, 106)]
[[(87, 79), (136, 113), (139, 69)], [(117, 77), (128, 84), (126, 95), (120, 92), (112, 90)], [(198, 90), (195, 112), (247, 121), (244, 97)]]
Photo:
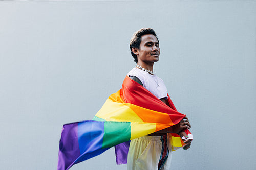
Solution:
[(65, 124), (59, 142), (58, 170), (97, 156), (109, 148), (102, 148), (104, 122), (87, 120)]

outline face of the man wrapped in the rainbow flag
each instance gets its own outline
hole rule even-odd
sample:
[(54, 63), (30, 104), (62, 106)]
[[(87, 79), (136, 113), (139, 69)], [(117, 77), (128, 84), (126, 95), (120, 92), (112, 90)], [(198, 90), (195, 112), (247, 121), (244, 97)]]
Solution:
[(157, 37), (152, 34), (141, 36), (140, 49), (137, 52), (138, 61), (141, 60), (145, 63), (157, 62), (160, 55)]

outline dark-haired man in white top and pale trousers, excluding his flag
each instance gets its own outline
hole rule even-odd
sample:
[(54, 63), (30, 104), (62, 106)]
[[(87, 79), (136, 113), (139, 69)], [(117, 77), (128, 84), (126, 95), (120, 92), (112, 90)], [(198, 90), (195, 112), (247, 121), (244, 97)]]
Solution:
[[(163, 80), (153, 72), (154, 62), (159, 60), (160, 55), (159, 40), (155, 31), (151, 28), (142, 28), (135, 32), (130, 42), (130, 49), (137, 65), (127, 75), (166, 104), (167, 89)], [(172, 147), (170, 133), (188, 138), (183, 130), (190, 127), (185, 117), (179, 124), (131, 140), (127, 169), (168, 169), (169, 149)], [(183, 141), (186, 143), (183, 149), (188, 149), (191, 140)]]

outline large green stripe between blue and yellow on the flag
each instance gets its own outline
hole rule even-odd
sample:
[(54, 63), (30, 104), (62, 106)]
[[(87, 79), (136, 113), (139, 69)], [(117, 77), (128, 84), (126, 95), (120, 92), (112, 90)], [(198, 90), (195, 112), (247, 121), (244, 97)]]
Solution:
[(105, 122), (102, 148), (113, 147), (131, 138), (130, 122)]

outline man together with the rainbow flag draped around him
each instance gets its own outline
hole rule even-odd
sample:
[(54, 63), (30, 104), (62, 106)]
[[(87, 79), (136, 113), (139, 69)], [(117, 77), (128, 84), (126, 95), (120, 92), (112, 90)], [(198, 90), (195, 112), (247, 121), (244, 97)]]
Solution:
[(63, 125), (59, 170), (114, 146), (117, 164), (127, 163), (128, 169), (167, 169), (170, 151), (190, 147), (188, 119), (176, 110), (163, 80), (153, 73), (160, 54), (154, 30), (136, 32), (130, 48), (137, 67), (129, 72), (130, 78), (125, 77), (122, 88), (109, 96), (93, 120)]

